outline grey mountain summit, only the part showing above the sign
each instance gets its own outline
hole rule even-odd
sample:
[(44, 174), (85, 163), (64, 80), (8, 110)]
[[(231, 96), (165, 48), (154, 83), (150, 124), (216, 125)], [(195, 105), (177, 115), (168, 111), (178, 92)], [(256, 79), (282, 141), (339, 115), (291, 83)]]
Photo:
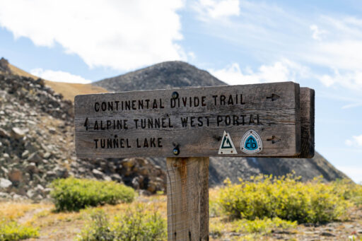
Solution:
[(108, 91), (156, 90), (187, 86), (226, 86), (209, 72), (182, 61), (168, 61), (93, 83)]

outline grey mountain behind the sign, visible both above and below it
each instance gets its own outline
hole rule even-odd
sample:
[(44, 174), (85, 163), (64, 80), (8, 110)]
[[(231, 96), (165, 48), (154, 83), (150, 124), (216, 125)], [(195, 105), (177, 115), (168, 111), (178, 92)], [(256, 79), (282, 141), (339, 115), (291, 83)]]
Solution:
[[(94, 83), (109, 91), (154, 90), (187, 86), (226, 85), (207, 71), (182, 61), (168, 61), (128, 74), (106, 78)], [(151, 162), (165, 169), (164, 158), (150, 158)], [(227, 177), (237, 181), (257, 174), (286, 175), (294, 170), (303, 180), (322, 175), (331, 181), (346, 175), (337, 170), (319, 153), (311, 159), (293, 158), (210, 158), (210, 184), (221, 184)], [(348, 178), (348, 177), (347, 177)]]

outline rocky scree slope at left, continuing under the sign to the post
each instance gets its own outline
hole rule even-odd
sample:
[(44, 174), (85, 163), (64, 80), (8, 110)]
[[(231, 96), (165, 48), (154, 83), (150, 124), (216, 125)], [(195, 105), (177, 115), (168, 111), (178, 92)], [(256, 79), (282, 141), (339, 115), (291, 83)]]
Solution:
[(0, 60), (0, 199), (49, 197), (49, 182), (85, 177), (154, 193), (165, 175), (144, 158), (86, 159), (74, 153), (74, 106), (41, 79), (15, 76)]

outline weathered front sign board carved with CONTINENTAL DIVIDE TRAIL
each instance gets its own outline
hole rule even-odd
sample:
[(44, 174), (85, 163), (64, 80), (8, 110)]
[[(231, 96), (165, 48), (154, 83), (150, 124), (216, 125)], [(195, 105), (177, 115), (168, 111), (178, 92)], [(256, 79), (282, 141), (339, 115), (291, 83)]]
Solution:
[[(171, 108), (171, 95), (174, 91), (179, 95), (177, 100), (180, 100), (181, 106)], [(214, 95), (218, 96), (216, 105)], [(230, 95), (234, 96), (233, 105), (228, 103)], [(238, 104), (235, 104), (235, 95), (238, 95)], [(76, 153), (79, 158), (174, 157), (173, 149), (177, 146), (180, 150), (178, 157), (296, 156), (301, 151), (299, 95), (299, 85), (293, 82), (77, 95), (74, 101)], [(226, 97), (224, 102), (221, 96)], [(189, 107), (189, 98), (194, 100), (195, 97), (199, 98), (199, 106)], [(203, 97), (204, 106), (201, 104)], [(186, 107), (182, 107), (183, 100), (186, 100), (184, 98), (187, 98)], [(139, 100), (154, 99), (158, 102), (157, 108), (139, 110)], [(120, 106), (122, 101), (130, 101), (132, 104), (133, 100), (134, 110), (115, 110), (115, 101)], [(159, 100), (162, 100), (163, 108), (159, 107)], [(96, 112), (95, 109), (99, 110), (103, 102), (105, 105), (112, 102), (113, 110), (106, 108), (105, 111)], [(181, 118), (186, 117), (187, 127), (182, 127)], [(199, 117), (202, 118), (202, 126), (199, 126)], [(160, 128), (148, 129), (146, 126), (142, 129), (140, 126), (141, 119), (153, 119), (153, 122), (160, 119), (162, 122), (162, 118), (163, 127), (161, 125)], [(192, 118), (194, 127), (191, 127)], [(221, 122), (218, 122), (218, 118)], [(233, 118), (238, 119), (234, 122)], [(137, 128), (134, 119), (138, 119)], [(124, 120), (127, 120), (127, 129), (112, 128), (114, 121)], [(95, 122), (100, 128), (100, 121), (103, 122), (103, 127), (110, 121), (111, 128), (95, 129)], [(257, 154), (246, 154), (240, 150), (241, 139), (250, 129), (256, 131), (262, 139), (263, 149)], [(230, 134), (238, 154), (218, 155), (223, 131)], [(144, 139), (148, 140), (150, 146), (151, 138), (156, 145), (145, 148)], [(107, 148), (107, 141), (114, 139), (119, 142), (122, 139), (123, 147), (114, 148), (111, 143), (110, 148)], [(137, 139), (141, 145), (137, 145)], [(95, 148), (95, 140), (98, 140), (98, 148)], [(104, 141), (105, 148), (100, 147), (100, 140)]]

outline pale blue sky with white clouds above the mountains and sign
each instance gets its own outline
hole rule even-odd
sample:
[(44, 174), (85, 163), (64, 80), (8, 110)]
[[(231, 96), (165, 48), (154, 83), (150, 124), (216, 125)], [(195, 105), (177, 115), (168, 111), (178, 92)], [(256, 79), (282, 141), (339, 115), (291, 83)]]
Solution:
[(52, 81), (89, 83), (183, 60), (229, 84), (316, 91), (316, 149), (362, 182), (362, 2), (6, 1), (0, 56)]

